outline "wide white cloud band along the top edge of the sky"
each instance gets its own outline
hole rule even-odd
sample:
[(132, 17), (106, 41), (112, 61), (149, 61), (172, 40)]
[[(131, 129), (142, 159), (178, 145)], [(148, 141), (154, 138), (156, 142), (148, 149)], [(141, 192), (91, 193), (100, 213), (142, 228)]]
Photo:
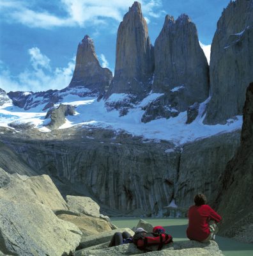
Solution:
[[(32, 2), (33, 3), (33, 2)], [(31, 28), (54, 28), (66, 26), (80, 26), (106, 24), (105, 19), (113, 19), (120, 22), (123, 15), (132, 6), (133, 0), (61, 0), (54, 1), (60, 10), (65, 11), (65, 16), (55, 15), (49, 10), (40, 12), (33, 10), (33, 4), (26, 1), (6, 1), (0, 4), (0, 12), (6, 22), (18, 22)], [(142, 0), (142, 12), (146, 19), (159, 17), (160, 0)], [(36, 4), (36, 2), (35, 2)]]

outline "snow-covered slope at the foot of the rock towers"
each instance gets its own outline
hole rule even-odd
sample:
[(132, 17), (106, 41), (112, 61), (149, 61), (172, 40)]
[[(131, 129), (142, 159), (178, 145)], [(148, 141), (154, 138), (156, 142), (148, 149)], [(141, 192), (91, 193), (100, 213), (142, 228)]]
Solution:
[[(192, 124), (185, 124), (187, 120), (187, 111), (180, 113), (174, 118), (160, 118), (153, 120), (146, 124), (141, 122), (141, 117), (144, 113), (144, 107), (152, 100), (160, 97), (160, 93), (150, 93), (148, 97), (143, 99), (139, 104), (132, 106), (128, 109), (127, 115), (119, 116), (119, 111), (116, 109), (106, 108), (108, 102), (120, 102), (126, 100), (128, 95), (114, 94), (105, 102), (104, 99), (97, 100), (96, 97), (80, 97), (77, 94), (62, 92), (59, 102), (54, 104), (55, 107), (62, 104), (70, 104), (75, 106), (76, 114), (74, 116), (66, 116), (65, 124), (61, 125), (59, 129), (73, 127), (75, 125), (82, 125), (83, 127), (103, 127), (114, 130), (125, 130), (126, 132), (135, 136), (142, 136), (143, 141), (147, 140), (169, 140), (173, 141), (176, 145), (194, 141), (199, 138), (205, 138), (220, 132), (230, 132), (236, 129), (241, 129), (242, 117), (236, 116), (234, 120), (227, 120), (225, 125), (204, 125), (203, 119), (204, 109), (208, 100), (203, 102), (199, 108), (199, 115), (192, 122)], [(7, 102), (0, 106), (0, 126), (8, 126), (11, 122), (29, 123), (34, 125), (40, 131), (50, 131), (45, 127), (49, 124), (50, 120), (45, 120), (46, 102), (41, 101), (34, 108), (24, 110), (13, 106), (11, 102)]]

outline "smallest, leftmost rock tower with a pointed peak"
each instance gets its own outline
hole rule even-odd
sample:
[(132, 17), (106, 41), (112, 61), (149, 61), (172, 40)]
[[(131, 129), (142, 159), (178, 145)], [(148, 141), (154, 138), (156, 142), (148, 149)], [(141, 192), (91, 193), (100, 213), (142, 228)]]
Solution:
[(91, 92), (104, 93), (111, 80), (112, 72), (99, 64), (93, 40), (88, 35), (84, 36), (77, 48), (75, 70), (69, 86), (82, 86)]

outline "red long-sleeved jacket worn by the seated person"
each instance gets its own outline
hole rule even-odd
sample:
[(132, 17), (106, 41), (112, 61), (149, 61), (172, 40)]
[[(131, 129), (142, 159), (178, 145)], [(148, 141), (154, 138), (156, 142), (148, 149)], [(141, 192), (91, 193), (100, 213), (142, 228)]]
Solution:
[(188, 211), (188, 218), (187, 237), (196, 241), (204, 241), (209, 236), (210, 228), (208, 222), (210, 220), (217, 222), (222, 220), (220, 215), (207, 204), (201, 206), (192, 205)]

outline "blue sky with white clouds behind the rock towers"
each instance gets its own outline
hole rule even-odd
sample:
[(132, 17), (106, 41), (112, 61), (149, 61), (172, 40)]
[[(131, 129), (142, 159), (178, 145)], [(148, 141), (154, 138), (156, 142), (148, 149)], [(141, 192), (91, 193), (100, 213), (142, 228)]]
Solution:
[[(177, 18), (187, 13), (197, 26), (199, 40), (210, 45), (229, 0), (139, 2), (152, 44), (166, 14)], [(132, 3), (132, 0), (1, 0), (0, 88), (6, 92), (65, 88), (75, 67), (77, 45), (86, 34), (95, 42), (100, 64), (113, 72), (117, 29)]]

